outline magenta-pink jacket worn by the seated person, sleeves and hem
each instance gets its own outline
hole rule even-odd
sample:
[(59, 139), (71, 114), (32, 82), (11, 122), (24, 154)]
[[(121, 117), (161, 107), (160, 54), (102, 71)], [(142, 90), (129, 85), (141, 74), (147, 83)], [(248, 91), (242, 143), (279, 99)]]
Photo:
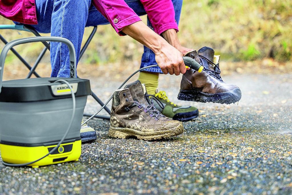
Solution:
[[(161, 34), (171, 28), (178, 30), (171, 0), (141, 0), (141, 2), (155, 32)], [(105, 16), (119, 35), (125, 35), (121, 32), (124, 27), (141, 20), (124, 0), (92, 0), (91, 3)], [(31, 0), (0, 0), (0, 15), (20, 23), (37, 24), (35, 3)]]

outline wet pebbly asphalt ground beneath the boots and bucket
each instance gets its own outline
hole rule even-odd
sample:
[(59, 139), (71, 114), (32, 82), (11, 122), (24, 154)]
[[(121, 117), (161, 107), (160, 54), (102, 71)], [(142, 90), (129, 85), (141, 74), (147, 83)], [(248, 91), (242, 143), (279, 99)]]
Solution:
[[(91, 88), (105, 102), (127, 76), (90, 78)], [(0, 194), (292, 194), (292, 73), (224, 76), (242, 91), (230, 105), (177, 100), (180, 78), (162, 75), (159, 88), (173, 102), (199, 108), (182, 135), (114, 139), (109, 120), (94, 118), (87, 124), (97, 140), (82, 144), (79, 161), (0, 163)], [(88, 97), (85, 112), (99, 108)]]

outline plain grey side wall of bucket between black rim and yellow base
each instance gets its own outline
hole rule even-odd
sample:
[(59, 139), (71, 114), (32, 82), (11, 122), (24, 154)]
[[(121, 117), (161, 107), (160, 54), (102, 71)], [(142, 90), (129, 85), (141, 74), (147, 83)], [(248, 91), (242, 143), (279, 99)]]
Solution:
[[(76, 98), (71, 129), (63, 143), (80, 140), (86, 96)], [(0, 102), (0, 143), (17, 146), (57, 144), (70, 125), (72, 99), (35, 102)]]

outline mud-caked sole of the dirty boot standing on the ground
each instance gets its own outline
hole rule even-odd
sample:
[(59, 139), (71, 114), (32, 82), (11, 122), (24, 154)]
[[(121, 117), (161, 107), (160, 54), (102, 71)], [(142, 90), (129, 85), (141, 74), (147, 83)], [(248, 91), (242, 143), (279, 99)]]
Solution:
[(137, 139), (143, 140), (156, 140), (156, 139), (167, 139), (179, 134), (182, 134), (184, 129), (175, 127), (168, 129), (167, 131), (161, 132), (142, 132), (135, 129), (123, 128), (123, 127), (109, 127), (109, 136), (114, 138), (126, 139), (130, 137), (137, 137)]

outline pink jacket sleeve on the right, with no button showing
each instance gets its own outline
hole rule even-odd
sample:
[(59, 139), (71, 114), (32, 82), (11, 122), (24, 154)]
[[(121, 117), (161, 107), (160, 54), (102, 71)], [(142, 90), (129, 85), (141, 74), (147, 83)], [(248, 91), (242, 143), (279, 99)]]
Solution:
[(178, 25), (174, 18), (174, 8), (171, 0), (140, 0), (148, 18), (157, 34), (168, 29), (178, 31)]

